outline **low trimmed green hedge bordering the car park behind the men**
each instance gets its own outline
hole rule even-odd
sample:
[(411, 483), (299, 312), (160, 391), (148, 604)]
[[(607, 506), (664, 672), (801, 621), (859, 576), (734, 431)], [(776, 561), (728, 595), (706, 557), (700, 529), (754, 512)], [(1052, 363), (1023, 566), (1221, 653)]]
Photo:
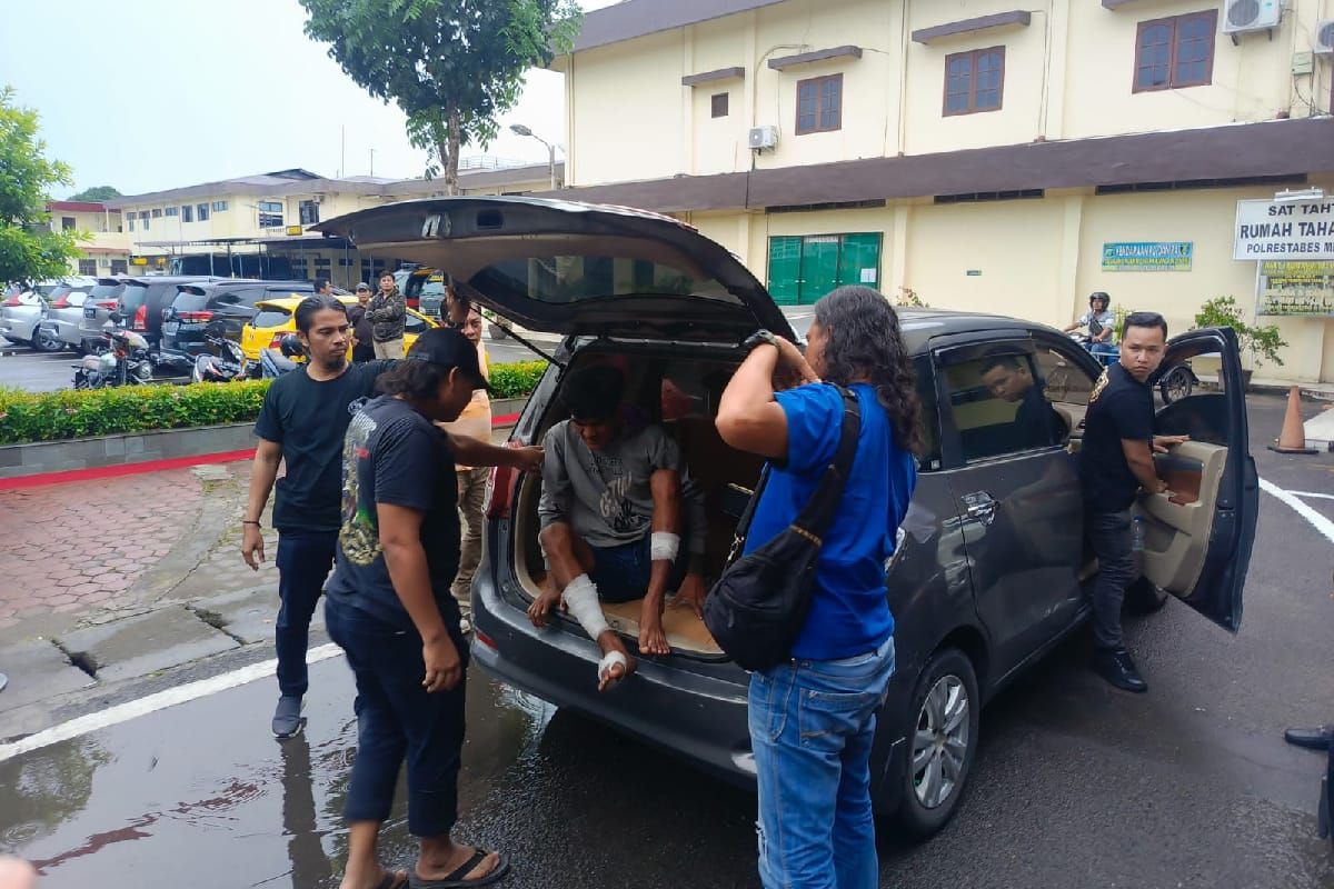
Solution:
[[(496, 399), (532, 392), (546, 361), (491, 367)], [(0, 387), (0, 445), (249, 423), (268, 380), (24, 392)]]

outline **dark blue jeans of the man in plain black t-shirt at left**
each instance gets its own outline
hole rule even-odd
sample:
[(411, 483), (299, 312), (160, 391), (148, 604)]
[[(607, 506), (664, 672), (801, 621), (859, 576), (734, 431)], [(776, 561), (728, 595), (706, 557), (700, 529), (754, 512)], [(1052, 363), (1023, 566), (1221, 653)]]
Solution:
[(284, 697), (304, 697), (309, 686), (305, 648), (311, 641), (311, 617), (334, 569), (336, 530), (277, 532), (277, 621), (273, 648), (277, 649), (277, 689)]

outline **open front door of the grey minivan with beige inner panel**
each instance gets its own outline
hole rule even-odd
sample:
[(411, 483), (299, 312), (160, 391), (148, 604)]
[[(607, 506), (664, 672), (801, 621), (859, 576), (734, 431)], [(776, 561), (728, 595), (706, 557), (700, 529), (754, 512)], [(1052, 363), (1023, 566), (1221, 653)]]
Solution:
[(1141, 494), (1137, 504), (1143, 574), (1235, 633), (1259, 513), (1237, 335), (1207, 328), (1173, 337), (1151, 383), (1198, 356), (1219, 360), (1222, 387), (1167, 405), (1159, 401), (1155, 435), (1185, 435), (1190, 441), (1154, 456), (1169, 492)]

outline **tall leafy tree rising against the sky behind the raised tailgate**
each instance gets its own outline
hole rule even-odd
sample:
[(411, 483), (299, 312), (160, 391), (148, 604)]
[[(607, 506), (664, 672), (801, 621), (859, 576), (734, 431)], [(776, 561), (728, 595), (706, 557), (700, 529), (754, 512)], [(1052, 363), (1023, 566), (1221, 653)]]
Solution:
[(459, 192), (459, 151), (486, 148), (530, 68), (568, 52), (575, 0), (300, 0), (305, 33), (376, 99), (408, 117), (408, 140), (430, 152), (427, 176)]

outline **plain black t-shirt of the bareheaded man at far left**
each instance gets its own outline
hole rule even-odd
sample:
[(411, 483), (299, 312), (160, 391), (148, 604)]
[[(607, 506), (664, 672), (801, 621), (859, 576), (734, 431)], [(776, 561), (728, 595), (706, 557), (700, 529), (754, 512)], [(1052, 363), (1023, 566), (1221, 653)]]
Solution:
[(297, 368), (268, 388), (255, 435), (283, 445), (287, 474), (277, 480), (273, 526), (338, 530), (343, 433), (352, 405), (375, 392), (392, 361), (354, 364), (334, 380), (316, 381)]

